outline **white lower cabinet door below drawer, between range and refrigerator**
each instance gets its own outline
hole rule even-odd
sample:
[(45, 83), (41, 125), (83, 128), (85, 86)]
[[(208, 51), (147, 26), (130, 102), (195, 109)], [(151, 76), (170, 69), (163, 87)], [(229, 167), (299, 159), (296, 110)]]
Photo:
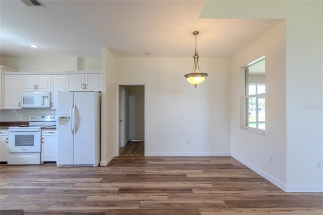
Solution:
[(56, 136), (44, 136), (41, 138), (41, 161), (56, 162), (57, 139)]

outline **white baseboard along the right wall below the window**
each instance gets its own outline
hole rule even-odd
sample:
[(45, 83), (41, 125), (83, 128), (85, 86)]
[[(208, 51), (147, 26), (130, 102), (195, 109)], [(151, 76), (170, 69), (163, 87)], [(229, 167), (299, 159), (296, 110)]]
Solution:
[(262, 170), (259, 170), (258, 168), (256, 168), (252, 164), (248, 163), (246, 160), (242, 159), (241, 157), (239, 157), (235, 154), (231, 154), (231, 156), (285, 192), (323, 192), (323, 186), (312, 186), (312, 185), (290, 186), (290, 185), (286, 185), (285, 183), (282, 183), (281, 181), (268, 175), (267, 173), (263, 172)]

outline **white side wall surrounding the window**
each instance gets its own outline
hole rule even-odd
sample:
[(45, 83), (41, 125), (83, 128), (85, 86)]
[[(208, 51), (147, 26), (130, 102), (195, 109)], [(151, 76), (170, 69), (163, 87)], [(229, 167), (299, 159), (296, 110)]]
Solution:
[[(266, 130), (251, 132), (241, 125), (244, 107), (244, 70), (265, 56)], [(286, 181), (285, 21), (257, 38), (231, 60), (231, 153), (232, 156), (283, 188)], [(270, 162), (274, 156), (274, 163)]]

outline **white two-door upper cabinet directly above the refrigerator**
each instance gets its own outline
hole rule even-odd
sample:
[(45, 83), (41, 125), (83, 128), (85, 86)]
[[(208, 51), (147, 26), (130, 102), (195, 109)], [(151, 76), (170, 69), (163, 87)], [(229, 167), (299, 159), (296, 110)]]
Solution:
[(67, 91), (101, 91), (101, 72), (66, 72)]

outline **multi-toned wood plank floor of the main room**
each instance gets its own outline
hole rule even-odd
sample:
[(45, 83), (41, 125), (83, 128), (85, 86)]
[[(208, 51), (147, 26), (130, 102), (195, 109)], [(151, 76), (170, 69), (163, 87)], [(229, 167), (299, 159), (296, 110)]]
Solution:
[(25, 214), (319, 214), (230, 156), (119, 156), (105, 167), (0, 165), (1, 209)]

